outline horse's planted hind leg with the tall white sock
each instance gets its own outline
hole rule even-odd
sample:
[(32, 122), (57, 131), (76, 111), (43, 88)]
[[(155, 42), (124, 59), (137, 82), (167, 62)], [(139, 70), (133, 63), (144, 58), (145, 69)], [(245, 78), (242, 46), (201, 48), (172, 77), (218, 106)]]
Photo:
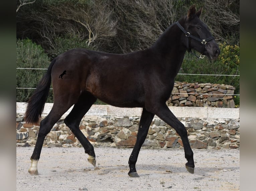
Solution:
[(59, 118), (70, 107), (71, 107), (71, 105), (67, 105), (67, 106), (63, 107), (62, 104), (60, 106), (60, 104), (54, 103), (49, 114), (43, 120), (41, 120), (35, 148), (34, 148), (32, 156), (30, 157), (31, 166), (28, 169), (28, 172), (31, 175), (38, 175), (37, 162), (40, 158), (40, 154), (41, 154), (45, 136), (50, 132), (53, 125), (59, 120)]

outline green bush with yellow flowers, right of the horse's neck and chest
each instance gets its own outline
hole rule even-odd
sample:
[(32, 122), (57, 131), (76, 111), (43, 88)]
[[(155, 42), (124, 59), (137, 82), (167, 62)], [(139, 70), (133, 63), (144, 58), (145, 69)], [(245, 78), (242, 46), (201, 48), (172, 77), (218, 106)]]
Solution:
[[(180, 74), (214, 74), (214, 75), (240, 75), (240, 48), (237, 45), (219, 45), (221, 54), (216, 61), (198, 59), (190, 53), (186, 53)], [(199, 53), (196, 53), (199, 54)], [(213, 83), (226, 84), (236, 88), (234, 94), (240, 94), (239, 76), (199, 76), (177, 75), (175, 81), (187, 83)], [(235, 104), (239, 106), (239, 96), (236, 96)]]

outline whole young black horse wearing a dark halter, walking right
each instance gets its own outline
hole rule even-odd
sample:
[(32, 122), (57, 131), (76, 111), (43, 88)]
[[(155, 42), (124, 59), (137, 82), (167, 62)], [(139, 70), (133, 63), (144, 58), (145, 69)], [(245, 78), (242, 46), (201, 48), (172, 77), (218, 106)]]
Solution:
[[(137, 141), (129, 158), (129, 176), (139, 177), (136, 161), (150, 123), (157, 115), (172, 126), (184, 145), (186, 169), (194, 173), (193, 151), (184, 125), (174, 116), (165, 102), (171, 95), (186, 50), (195, 49), (210, 59), (216, 59), (220, 49), (206, 24), (191, 6), (187, 15), (169, 26), (148, 49), (129, 54), (108, 54), (83, 48), (69, 50), (57, 56), (28, 100), (26, 122), (37, 123), (52, 83), (54, 103), (49, 114), (40, 122), (36, 145), (31, 156), (29, 173), (37, 175), (37, 162), (45, 136), (54, 123), (72, 106), (64, 122), (71, 129), (96, 165), (92, 144), (79, 129), (82, 117), (98, 99), (118, 107), (142, 107)], [(201, 55), (201, 56), (202, 56)], [(73, 78), (60, 80), (62, 71), (71, 71)]]

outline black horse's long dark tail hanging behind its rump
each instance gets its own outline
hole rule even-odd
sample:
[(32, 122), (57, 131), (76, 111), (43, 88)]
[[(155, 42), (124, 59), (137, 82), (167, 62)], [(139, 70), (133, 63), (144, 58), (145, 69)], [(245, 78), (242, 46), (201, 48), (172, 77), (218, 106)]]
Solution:
[(25, 121), (27, 123), (38, 123), (43, 112), (44, 104), (48, 97), (49, 89), (51, 86), (51, 68), (55, 63), (55, 59), (48, 67), (47, 73), (42, 77), (39, 84), (36, 87), (33, 95), (27, 102), (27, 110), (25, 113)]

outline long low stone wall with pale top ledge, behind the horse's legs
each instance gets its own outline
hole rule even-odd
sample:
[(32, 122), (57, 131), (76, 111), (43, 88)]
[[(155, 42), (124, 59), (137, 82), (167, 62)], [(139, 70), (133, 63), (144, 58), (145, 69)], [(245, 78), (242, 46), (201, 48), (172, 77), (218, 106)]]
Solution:
[[(46, 103), (44, 118), (52, 104)], [(240, 148), (239, 108), (169, 107), (185, 125), (192, 148)], [(71, 110), (71, 109), (70, 109)], [(70, 111), (69, 110), (69, 111)], [(44, 140), (46, 147), (72, 147), (82, 145), (63, 123), (67, 111), (53, 126)], [(141, 108), (118, 108), (93, 105), (80, 123), (80, 129), (94, 145), (133, 147), (136, 142)], [(34, 146), (39, 124), (24, 122), (25, 104), (16, 104), (17, 146)], [(144, 147), (183, 147), (176, 131), (157, 116), (154, 117)]]

